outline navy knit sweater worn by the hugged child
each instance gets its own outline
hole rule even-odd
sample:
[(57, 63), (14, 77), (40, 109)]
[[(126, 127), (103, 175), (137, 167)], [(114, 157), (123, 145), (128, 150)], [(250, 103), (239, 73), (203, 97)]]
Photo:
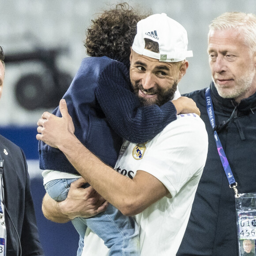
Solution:
[[(103, 162), (115, 166), (123, 138), (142, 143), (152, 139), (177, 111), (172, 102), (141, 106), (132, 93), (128, 61), (88, 57), (64, 94), (75, 136)], [(57, 107), (53, 114), (61, 117)], [(40, 169), (79, 174), (65, 155), (39, 141)]]

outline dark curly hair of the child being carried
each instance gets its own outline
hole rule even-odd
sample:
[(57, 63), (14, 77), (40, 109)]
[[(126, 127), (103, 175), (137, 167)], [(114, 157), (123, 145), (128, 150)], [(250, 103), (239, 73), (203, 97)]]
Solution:
[(104, 11), (91, 20), (84, 41), (89, 56), (108, 56), (129, 59), (136, 35), (137, 23), (148, 14), (139, 14), (127, 3), (117, 4), (114, 9)]

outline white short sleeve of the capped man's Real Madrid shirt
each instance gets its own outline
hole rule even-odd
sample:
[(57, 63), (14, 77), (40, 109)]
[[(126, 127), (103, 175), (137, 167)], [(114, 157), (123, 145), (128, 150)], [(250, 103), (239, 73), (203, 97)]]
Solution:
[(192, 177), (201, 176), (207, 158), (205, 125), (196, 114), (189, 115), (178, 116), (156, 136), (138, 166), (161, 181), (172, 197)]

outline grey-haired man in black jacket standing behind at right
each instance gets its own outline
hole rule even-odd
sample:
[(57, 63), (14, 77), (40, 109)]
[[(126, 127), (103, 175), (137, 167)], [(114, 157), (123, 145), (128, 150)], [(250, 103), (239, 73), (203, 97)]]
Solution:
[[(213, 20), (208, 54), (213, 80), (210, 110), (214, 110), (218, 138), (207, 113), (206, 88), (186, 95), (200, 109), (209, 148), (177, 256), (239, 255), (235, 193), (227, 176), (233, 173), (238, 193), (256, 192), (256, 16), (231, 12)], [(212, 113), (210, 117), (213, 119)], [(232, 171), (227, 176), (227, 162), (222, 166), (220, 157), (226, 159), (223, 151), (218, 152), (215, 138), (221, 142)]]

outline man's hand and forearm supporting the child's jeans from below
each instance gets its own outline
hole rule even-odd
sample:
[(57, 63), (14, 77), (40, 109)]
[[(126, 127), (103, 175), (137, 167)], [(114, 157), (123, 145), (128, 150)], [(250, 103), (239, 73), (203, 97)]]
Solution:
[(45, 218), (53, 222), (68, 222), (76, 217), (89, 218), (105, 211), (109, 203), (92, 187), (83, 188), (83, 178), (72, 182), (66, 200), (56, 202), (48, 194), (43, 199)]

